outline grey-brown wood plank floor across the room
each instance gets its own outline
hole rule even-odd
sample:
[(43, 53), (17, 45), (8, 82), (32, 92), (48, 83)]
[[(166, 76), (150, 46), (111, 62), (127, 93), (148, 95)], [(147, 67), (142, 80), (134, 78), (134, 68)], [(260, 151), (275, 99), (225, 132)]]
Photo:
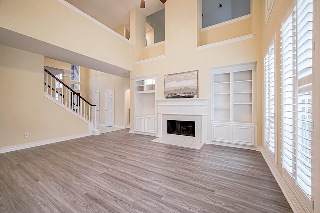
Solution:
[(291, 213), (261, 153), (119, 130), (0, 155), (1, 213)]

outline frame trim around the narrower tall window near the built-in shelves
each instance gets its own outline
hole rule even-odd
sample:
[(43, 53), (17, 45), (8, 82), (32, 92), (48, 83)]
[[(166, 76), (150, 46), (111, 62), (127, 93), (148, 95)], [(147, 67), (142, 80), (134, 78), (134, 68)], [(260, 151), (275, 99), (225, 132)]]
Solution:
[[(278, 162), (278, 148), (277, 148), (277, 33), (275, 32), (275, 34), (273, 35), (271, 42), (268, 45), (267, 50), (265, 51), (264, 56), (266, 56), (266, 54), (268, 54), (269, 51), (269, 47), (271, 46), (271, 44), (274, 43), (274, 156), (270, 153), (269, 150), (266, 150), (267, 153), (269, 154), (270, 158), (273, 160), (274, 164), (277, 165)], [(265, 74), (265, 70), (264, 70), (264, 74)], [(264, 85), (264, 89), (265, 89), (265, 85)], [(265, 97), (264, 97), (265, 100)], [(265, 111), (264, 111), (264, 116), (265, 116)], [(264, 121), (263, 121), (263, 140), (264, 140), (264, 148), (265, 147), (265, 117), (264, 117)]]

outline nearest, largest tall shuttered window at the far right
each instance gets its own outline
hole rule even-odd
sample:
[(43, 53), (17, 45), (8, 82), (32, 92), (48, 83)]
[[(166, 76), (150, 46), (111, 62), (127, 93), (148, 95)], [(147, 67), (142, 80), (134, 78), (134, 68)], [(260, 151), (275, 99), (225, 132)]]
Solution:
[[(282, 167), (311, 201), (312, 0), (297, 0), (282, 23)], [(305, 195), (305, 196), (304, 196)]]

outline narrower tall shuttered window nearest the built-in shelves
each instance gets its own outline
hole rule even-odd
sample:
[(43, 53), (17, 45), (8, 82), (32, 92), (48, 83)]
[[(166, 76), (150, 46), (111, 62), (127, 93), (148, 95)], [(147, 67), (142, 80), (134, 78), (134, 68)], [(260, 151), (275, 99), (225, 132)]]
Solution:
[(264, 57), (264, 145), (276, 162), (275, 37)]

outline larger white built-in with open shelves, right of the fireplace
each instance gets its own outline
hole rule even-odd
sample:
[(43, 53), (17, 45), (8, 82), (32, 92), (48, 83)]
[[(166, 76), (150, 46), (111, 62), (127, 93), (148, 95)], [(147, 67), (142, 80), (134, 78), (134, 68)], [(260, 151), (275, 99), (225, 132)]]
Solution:
[(256, 146), (255, 66), (253, 62), (211, 69), (212, 143)]

